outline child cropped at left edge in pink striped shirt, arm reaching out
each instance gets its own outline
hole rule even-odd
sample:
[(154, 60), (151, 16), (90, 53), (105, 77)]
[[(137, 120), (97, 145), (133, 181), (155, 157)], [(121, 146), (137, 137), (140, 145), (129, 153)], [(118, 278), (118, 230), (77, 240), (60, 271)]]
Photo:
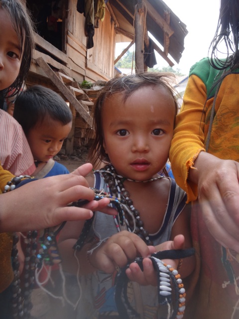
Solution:
[[(33, 47), (32, 23), (25, 5), (20, 0), (0, 0), (1, 101), (6, 97), (17, 96), (23, 87), (30, 69)], [(14, 93), (8, 95), (14, 89)], [(98, 205), (101, 206), (101, 203), (105, 206), (104, 203), (108, 204), (109, 200), (101, 203), (93, 200), (94, 192), (89, 189), (83, 177), (88, 173), (89, 165), (80, 167), (75, 173), (31, 181), (30, 185), (23, 185), (19, 189), (2, 194), (6, 183), (14, 175), (30, 175), (35, 170), (34, 160), (22, 128), (2, 109), (0, 109), (0, 164), (0, 317), (27, 319), (30, 311), (29, 303), (26, 301), (29, 296), (27, 287), (30, 285), (25, 286), (24, 292), (24, 285), (21, 283), (19, 289), (18, 270), (12, 263), (12, 259), (17, 255), (16, 251), (11, 255), (13, 248), (11, 232), (52, 227), (67, 219), (87, 219), (92, 216), (93, 209)], [(91, 167), (90, 165), (90, 169)], [(89, 203), (83, 208), (68, 206), (70, 202), (79, 198), (89, 199)], [(12, 298), (12, 287), (14, 287), (14, 298)]]

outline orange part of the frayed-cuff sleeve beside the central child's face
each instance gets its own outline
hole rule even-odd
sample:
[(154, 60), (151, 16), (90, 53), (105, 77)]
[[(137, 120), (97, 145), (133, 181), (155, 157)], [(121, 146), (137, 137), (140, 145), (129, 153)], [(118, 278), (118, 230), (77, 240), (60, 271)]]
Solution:
[(188, 202), (197, 198), (197, 185), (188, 178), (204, 149), (204, 105), (207, 99), (206, 86), (196, 75), (191, 75), (183, 97), (181, 112), (176, 117), (174, 137), (171, 143), (169, 159), (177, 184), (187, 192)]

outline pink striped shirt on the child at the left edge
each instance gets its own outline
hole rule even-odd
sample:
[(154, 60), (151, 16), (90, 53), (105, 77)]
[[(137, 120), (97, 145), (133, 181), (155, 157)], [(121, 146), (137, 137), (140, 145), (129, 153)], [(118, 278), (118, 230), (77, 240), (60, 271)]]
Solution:
[(21, 126), (3, 110), (0, 110), (0, 163), (16, 176), (31, 175), (36, 169)]

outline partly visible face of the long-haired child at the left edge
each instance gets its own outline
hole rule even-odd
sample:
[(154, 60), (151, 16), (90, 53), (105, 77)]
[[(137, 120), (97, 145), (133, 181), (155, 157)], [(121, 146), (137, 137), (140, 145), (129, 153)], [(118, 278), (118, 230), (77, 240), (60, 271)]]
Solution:
[(0, 8), (0, 90), (17, 78), (21, 65), (21, 43), (5, 10)]

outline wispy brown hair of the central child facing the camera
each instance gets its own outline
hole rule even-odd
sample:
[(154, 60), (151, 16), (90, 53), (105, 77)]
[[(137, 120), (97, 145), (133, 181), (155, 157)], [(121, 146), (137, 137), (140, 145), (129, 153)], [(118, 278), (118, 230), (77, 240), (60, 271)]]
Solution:
[[(116, 93), (123, 95), (123, 101), (136, 90), (146, 86), (161, 86), (164, 87), (169, 95), (172, 96), (175, 104), (175, 118), (178, 111), (177, 99), (175, 97), (175, 90), (172, 87), (173, 79), (175, 78), (173, 73), (161, 73), (161, 72), (144, 72), (139, 74), (131, 74), (123, 77), (116, 77), (107, 82), (106, 86), (101, 90), (97, 97), (93, 108), (93, 121), (96, 133), (96, 138), (89, 151), (89, 160), (93, 166), (99, 161), (109, 161), (108, 155), (106, 154), (103, 147), (103, 128), (101, 111), (104, 102), (107, 98)], [(170, 84), (171, 83), (171, 84)]]

